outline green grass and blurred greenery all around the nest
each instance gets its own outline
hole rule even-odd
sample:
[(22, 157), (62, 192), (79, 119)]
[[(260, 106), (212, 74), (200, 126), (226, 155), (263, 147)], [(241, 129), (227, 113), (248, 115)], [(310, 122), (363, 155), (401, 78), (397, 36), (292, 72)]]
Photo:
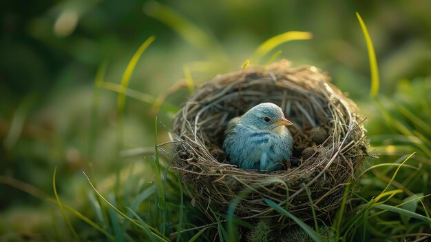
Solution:
[[(244, 236), (255, 226), (234, 216), (248, 191), (227, 213), (207, 218), (171, 168), (168, 145), (154, 143), (168, 139), (169, 118), (202, 81), (280, 58), (316, 65), (350, 92), (378, 155), (348, 181), (332, 220), (314, 216), (302, 226), (308, 232), (297, 225), (292, 233), (317, 236), (313, 230), (325, 241), (430, 236), (429, 8), (401, 1), (313, 4), (130, 1), (118, 8), (114, 1), (53, 1), (25, 11), (11, 5), (0, 81), (0, 241), (238, 240), (238, 228)], [(78, 13), (74, 32), (57, 37), (52, 26), (65, 13)], [(313, 31), (314, 40), (290, 42), (311, 37), (292, 30)], [(151, 34), (158, 39), (144, 52)], [(137, 40), (146, 44), (140, 48)], [(129, 148), (145, 154), (122, 155)], [(283, 210), (292, 207), (280, 206), (286, 223)]]

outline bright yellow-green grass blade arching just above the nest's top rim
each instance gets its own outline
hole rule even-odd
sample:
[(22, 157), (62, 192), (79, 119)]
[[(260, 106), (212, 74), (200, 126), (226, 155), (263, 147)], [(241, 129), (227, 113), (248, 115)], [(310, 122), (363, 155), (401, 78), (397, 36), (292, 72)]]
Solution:
[(278, 34), (275, 37), (264, 41), (264, 43), (257, 47), (250, 59), (253, 63), (259, 63), (262, 57), (271, 52), (271, 50), (277, 46), (280, 46), (282, 43), (295, 40), (311, 39), (312, 37), (313, 34), (311, 34), (311, 32), (289, 31), (283, 34)]

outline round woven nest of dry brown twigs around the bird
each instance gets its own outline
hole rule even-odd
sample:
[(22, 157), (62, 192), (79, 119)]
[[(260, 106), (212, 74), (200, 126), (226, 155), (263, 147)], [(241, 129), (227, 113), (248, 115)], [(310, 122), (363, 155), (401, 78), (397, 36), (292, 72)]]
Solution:
[[(288, 126), (293, 159), (270, 174), (229, 164), (221, 149), (229, 120), (262, 102), (279, 105), (294, 123)], [(357, 105), (313, 66), (290, 68), (282, 60), (231, 72), (203, 83), (176, 115), (176, 168), (192, 204), (207, 214), (236, 204), (236, 217), (284, 228), (293, 222), (264, 199), (302, 221), (313, 218), (311, 205), (317, 217), (330, 216), (368, 156), (363, 120)]]

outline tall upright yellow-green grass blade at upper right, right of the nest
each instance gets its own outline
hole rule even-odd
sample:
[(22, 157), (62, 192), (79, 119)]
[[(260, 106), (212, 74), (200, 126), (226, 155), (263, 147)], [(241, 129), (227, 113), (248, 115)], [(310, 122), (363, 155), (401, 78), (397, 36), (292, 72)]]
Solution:
[(364, 23), (364, 21), (361, 18), (361, 15), (359, 15), (358, 12), (356, 12), (357, 19), (359, 21), (359, 24), (361, 25), (362, 32), (364, 33), (364, 38), (367, 44), (368, 49), (368, 59), (370, 61), (370, 72), (371, 72), (371, 90), (370, 90), (370, 96), (376, 97), (379, 93), (379, 67), (377, 66), (377, 58), (376, 53), (374, 51), (374, 47), (372, 46), (372, 41), (370, 38), (370, 34), (368, 34), (367, 27)]

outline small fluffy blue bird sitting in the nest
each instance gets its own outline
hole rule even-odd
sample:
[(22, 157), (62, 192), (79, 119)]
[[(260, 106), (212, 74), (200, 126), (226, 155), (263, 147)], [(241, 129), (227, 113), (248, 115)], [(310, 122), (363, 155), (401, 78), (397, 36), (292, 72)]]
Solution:
[(229, 163), (245, 170), (273, 172), (292, 157), (292, 125), (274, 103), (255, 105), (231, 119), (224, 132), (223, 150)]

